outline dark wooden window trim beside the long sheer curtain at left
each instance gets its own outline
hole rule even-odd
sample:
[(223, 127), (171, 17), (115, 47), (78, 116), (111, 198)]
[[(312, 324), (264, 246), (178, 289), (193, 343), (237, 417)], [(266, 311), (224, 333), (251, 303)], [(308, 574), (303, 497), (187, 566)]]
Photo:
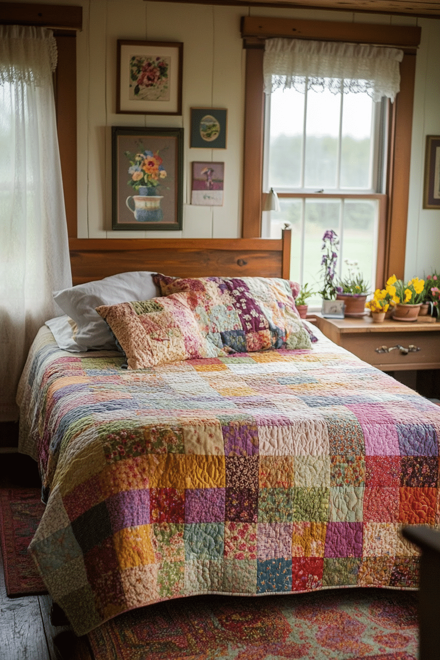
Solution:
[(77, 236), (77, 30), (82, 7), (0, 2), (0, 24), (53, 29), (58, 61), (53, 76), (55, 112), (69, 237)]

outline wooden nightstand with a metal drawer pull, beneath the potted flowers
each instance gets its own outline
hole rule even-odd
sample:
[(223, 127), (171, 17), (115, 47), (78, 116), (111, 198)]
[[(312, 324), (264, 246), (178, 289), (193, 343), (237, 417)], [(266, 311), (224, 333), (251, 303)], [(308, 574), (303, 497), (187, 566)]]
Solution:
[(370, 316), (325, 319), (316, 315), (316, 325), (335, 344), (381, 371), (440, 369), (439, 322), (387, 319), (373, 323)]

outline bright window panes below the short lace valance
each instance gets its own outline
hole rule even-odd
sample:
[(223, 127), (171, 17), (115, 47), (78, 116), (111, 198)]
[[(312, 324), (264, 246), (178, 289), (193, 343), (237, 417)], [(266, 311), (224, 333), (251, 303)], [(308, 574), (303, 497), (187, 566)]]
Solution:
[(262, 236), (279, 238), (290, 224), (293, 280), (319, 288), (321, 238), (332, 229), (340, 239), (338, 274), (348, 274), (346, 259), (356, 261), (375, 288), (387, 108), (365, 92), (307, 84), (304, 93), (267, 94), (263, 189), (280, 195), (281, 211), (263, 213)]

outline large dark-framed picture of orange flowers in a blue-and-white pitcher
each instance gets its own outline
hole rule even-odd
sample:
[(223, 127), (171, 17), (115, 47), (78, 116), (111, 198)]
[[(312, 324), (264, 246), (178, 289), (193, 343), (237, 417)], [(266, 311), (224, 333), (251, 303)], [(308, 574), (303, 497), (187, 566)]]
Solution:
[(114, 230), (179, 230), (183, 129), (111, 127)]

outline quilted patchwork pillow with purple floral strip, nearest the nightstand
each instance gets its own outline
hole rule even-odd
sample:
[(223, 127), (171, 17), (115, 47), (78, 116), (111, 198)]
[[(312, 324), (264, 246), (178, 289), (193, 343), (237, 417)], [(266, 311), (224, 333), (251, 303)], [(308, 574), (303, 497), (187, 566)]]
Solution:
[(268, 348), (311, 348), (295, 307), (299, 284), (268, 277), (174, 279), (156, 273), (162, 295), (197, 293), (191, 299), (201, 333), (212, 350), (253, 352)]

